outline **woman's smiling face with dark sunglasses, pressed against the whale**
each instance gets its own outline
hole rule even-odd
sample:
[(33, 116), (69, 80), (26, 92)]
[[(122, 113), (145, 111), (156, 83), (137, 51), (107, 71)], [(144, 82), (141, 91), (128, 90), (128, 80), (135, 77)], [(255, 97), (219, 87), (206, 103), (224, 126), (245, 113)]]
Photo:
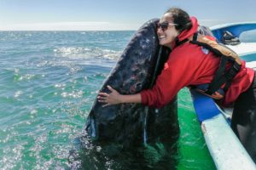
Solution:
[(172, 14), (166, 13), (160, 19), (160, 26), (157, 29), (160, 45), (172, 48), (172, 42), (178, 33), (172, 20)]

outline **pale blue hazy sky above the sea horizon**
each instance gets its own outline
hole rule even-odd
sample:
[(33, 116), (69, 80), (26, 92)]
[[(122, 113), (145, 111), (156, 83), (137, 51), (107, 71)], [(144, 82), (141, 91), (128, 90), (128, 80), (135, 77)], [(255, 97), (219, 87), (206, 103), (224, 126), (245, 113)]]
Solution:
[(203, 26), (256, 22), (256, 0), (0, 0), (0, 31), (137, 30), (171, 7)]

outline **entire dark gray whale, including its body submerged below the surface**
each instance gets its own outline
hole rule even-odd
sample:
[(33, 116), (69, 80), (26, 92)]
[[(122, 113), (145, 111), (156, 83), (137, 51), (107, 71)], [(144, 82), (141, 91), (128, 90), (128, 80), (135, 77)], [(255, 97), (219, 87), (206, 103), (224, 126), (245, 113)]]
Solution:
[[(149, 20), (134, 34), (101, 92), (109, 93), (110, 85), (121, 94), (136, 94), (154, 85), (170, 54), (159, 45), (158, 22)], [(177, 167), (177, 97), (158, 110), (138, 104), (103, 108), (95, 99), (84, 129), (67, 157), (71, 169)]]

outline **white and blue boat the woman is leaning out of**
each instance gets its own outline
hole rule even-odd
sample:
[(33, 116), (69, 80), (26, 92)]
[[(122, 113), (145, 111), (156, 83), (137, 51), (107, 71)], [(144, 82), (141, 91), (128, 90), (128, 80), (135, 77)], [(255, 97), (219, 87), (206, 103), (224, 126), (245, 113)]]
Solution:
[[(241, 32), (256, 29), (256, 23), (237, 23), (211, 27), (212, 33), (220, 41), (224, 31), (230, 31), (240, 37)], [(256, 70), (256, 42), (241, 42), (238, 45), (228, 45), (237, 54), (247, 57), (255, 54), (255, 60), (247, 62), (248, 67)], [(253, 170), (256, 165), (247, 154), (236, 134), (230, 128), (230, 113), (232, 109), (220, 109), (214, 100), (206, 95), (191, 90), (193, 104), (201, 130), (215, 165), (220, 170)]]

